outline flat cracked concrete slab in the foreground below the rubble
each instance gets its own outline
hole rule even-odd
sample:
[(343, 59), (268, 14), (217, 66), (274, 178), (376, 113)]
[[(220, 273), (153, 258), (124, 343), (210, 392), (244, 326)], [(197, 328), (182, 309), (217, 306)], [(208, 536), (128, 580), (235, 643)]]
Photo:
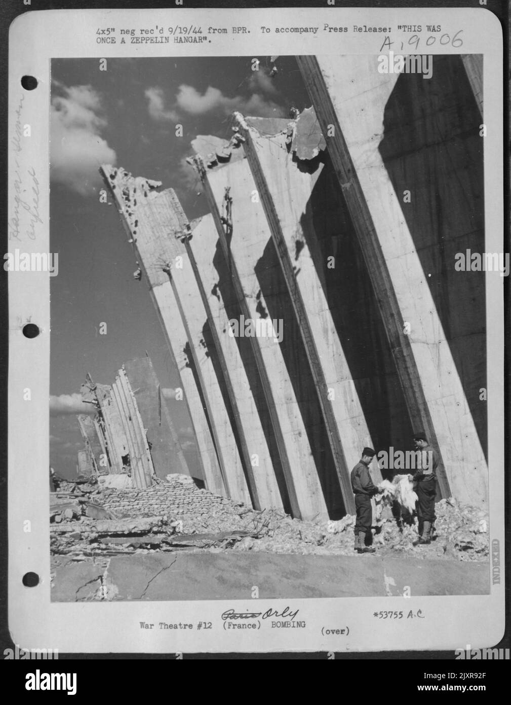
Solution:
[(146, 553), (53, 558), (52, 601), (488, 594), (487, 562), (282, 553)]

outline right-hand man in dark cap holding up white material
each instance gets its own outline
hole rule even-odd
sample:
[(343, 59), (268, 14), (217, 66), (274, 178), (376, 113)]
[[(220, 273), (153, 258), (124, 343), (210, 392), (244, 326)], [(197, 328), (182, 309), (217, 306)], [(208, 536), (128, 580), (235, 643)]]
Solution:
[(431, 543), (431, 532), (434, 527), (435, 498), (436, 498), (436, 468), (439, 466), (439, 454), (431, 448), (423, 431), (413, 436), (417, 456), (420, 462), (419, 470), (408, 475), (410, 482), (416, 482), (417, 492), (417, 517), (419, 519), (419, 538), (414, 541), (414, 546), (423, 546)]

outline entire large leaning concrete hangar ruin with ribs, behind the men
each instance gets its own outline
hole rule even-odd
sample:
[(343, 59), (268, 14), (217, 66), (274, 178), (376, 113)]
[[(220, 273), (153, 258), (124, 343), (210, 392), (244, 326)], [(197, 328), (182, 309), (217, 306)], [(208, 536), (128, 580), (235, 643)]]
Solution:
[(101, 167), (211, 491), (339, 518), (362, 447), (424, 429), (439, 495), (486, 504), (485, 280), (454, 269), (484, 252), (479, 59), (434, 57), (423, 80), (298, 57), (312, 107), (192, 142), (210, 209), (194, 221), (172, 188)]

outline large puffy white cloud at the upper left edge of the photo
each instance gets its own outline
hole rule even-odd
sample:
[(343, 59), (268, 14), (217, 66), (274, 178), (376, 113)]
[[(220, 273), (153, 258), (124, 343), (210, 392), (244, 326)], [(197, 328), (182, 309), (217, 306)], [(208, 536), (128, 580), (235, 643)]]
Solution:
[(107, 125), (101, 117), (101, 97), (91, 86), (67, 87), (56, 81), (53, 86), (63, 96), (51, 99), (51, 178), (89, 195), (101, 185), (99, 166), (117, 160), (101, 137)]

